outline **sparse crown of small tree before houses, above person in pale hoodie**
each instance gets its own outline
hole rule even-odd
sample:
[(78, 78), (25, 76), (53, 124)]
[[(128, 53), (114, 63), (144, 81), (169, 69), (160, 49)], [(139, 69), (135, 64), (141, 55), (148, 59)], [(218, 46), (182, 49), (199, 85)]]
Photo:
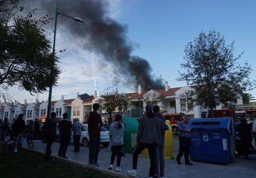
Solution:
[(129, 95), (119, 94), (114, 88), (107, 88), (96, 102), (111, 115), (116, 108), (118, 108), (118, 112), (127, 110), (130, 104), (130, 98)]

